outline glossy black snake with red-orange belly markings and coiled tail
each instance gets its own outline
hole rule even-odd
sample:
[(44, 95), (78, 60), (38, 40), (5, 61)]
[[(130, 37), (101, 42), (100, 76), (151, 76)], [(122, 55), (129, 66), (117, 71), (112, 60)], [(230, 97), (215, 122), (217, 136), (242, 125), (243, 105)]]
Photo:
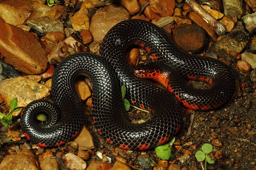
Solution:
[[(138, 68), (130, 66), (125, 55), (133, 45), (143, 47), (155, 62)], [(36, 100), (24, 108), (22, 129), (33, 143), (42, 147), (62, 145), (82, 129), (84, 106), (74, 88), (80, 75), (92, 82), (92, 119), (97, 131), (108, 143), (127, 150), (150, 149), (172, 139), (183, 124), (182, 106), (215, 109), (234, 93), (234, 74), (229, 66), (218, 59), (183, 51), (149, 21), (117, 23), (105, 35), (99, 54), (66, 57), (52, 78), (52, 101)], [(148, 78), (159, 79), (165, 88)], [(210, 87), (194, 88), (187, 78), (205, 81)], [(126, 87), (125, 95), (131, 104), (152, 112), (148, 121), (131, 123), (121, 86)], [(42, 112), (48, 118), (44, 124), (36, 120)]]

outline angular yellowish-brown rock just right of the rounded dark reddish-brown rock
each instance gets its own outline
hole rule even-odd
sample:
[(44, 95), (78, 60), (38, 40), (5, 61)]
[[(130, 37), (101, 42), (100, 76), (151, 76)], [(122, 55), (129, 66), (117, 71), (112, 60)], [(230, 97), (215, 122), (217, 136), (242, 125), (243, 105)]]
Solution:
[(222, 35), (218, 37), (216, 43), (212, 45), (210, 51), (217, 53), (221, 57), (236, 57), (246, 46), (246, 41), (238, 42), (229, 35)]

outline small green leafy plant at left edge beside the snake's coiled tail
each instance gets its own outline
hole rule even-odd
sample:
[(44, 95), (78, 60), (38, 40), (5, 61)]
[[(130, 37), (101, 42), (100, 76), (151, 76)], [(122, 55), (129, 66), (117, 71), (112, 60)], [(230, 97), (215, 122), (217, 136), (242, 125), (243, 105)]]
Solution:
[(0, 119), (2, 119), (2, 123), (4, 125), (4, 127), (8, 127), (8, 125), (12, 125), (12, 113), (14, 111), (19, 111), (19, 109), (23, 108), (23, 107), (18, 107), (18, 99), (17, 98), (13, 98), (10, 102), (10, 111), (7, 115), (4, 115), (3, 113), (0, 112)]

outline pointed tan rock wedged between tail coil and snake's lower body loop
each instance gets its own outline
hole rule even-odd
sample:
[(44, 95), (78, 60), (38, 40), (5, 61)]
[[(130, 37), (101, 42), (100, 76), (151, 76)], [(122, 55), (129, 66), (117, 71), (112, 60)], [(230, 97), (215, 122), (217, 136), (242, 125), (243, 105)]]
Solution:
[(92, 135), (84, 126), (80, 133), (74, 139), (74, 142), (78, 143), (79, 150), (89, 150), (94, 149), (94, 143), (92, 139)]

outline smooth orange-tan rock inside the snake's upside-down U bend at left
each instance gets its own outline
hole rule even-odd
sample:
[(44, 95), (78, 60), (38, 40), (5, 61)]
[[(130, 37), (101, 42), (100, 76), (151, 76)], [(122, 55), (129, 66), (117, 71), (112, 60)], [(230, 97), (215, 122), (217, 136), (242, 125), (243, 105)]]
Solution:
[(81, 100), (86, 100), (92, 95), (88, 84), (84, 81), (76, 83), (75, 88)]

